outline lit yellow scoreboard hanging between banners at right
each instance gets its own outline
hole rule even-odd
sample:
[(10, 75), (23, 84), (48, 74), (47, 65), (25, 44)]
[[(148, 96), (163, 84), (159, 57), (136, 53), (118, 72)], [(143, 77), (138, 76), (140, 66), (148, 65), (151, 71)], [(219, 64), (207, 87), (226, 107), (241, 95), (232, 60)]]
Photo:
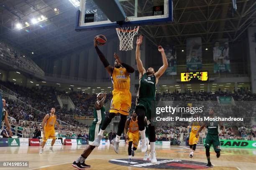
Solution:
[(207, 71), (181, 72), (181, 82), (206, 82), (208, 81)]

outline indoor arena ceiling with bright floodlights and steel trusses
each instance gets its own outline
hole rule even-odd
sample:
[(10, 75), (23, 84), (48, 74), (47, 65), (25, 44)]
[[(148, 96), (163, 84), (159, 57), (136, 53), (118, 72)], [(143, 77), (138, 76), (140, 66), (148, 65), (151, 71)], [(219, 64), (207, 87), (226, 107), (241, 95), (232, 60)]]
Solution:
[[(256, 0), (237, 0), (237, 10), (232, 0), (173, 0), (173, 6), (173, 23), (141, 27), (152, 44), (183, 46), (187, 37), (198, 36), (203, 44), (218, 38), (234, 42), (256, 23)], [(77, 9), (69, 0), (1, 0), (0, 39), (37, 60), (77, 52), (97, 34), (117, 38), (115, 29), (76, 32)]]

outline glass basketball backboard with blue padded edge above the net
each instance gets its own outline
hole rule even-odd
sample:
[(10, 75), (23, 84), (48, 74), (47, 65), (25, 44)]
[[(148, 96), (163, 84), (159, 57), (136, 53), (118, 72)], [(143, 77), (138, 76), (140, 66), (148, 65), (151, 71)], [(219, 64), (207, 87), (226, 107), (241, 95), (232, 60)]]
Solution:
[[(122, 22), (111, 22), (93, 0), (80, 0), (75, 30), (96, 30), (138, 25), (157, 25), (172, 21), (172, 0), (116, 0), (126, 15)], [(108, 10), (115, 13), (115, 9)]]

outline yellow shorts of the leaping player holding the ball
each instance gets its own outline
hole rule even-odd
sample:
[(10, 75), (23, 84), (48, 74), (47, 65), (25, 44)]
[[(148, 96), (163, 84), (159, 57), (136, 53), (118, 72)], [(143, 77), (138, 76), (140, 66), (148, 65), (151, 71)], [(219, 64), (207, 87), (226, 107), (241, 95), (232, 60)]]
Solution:
[(131, 109), (131, 92), (130, 90), (113, 90), (113, 98), (110, 105), (110, 113), (120, 113), (129, 115)]

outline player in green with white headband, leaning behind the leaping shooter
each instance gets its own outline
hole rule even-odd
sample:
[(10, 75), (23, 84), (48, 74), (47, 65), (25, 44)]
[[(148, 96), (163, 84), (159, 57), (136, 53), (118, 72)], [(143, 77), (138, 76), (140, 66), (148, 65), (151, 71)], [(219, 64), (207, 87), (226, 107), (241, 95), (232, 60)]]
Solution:
[(82, 169), (91, 167), (90, 165), (86, 165), (84, 163), (84, 161), (90, 155), (92, 150), (95, 148), (94, 140), (97, 138), (97, 135), (100, 131), (102, 123), (105, 119), (105, 113), (106, 113), (106, 110), (105, 110), (105, 107), (104, 107), (105, 99), (106, 99), (106, 94), (105, 93), (104, 94), (99, 93), (97, 95), (97, 102), (95, 102), (95, 105), (94, 105), (94, 108), (93, 108), (94, 120), (92, 122), (92, 125), (90, 127), (90, 131), (89, 131), (89, 145), (84, 150), (82, 155), (76, 161), (74, 161), (74, 163), (72, 164), (72, 166), (74, 168), (82, 170)]

